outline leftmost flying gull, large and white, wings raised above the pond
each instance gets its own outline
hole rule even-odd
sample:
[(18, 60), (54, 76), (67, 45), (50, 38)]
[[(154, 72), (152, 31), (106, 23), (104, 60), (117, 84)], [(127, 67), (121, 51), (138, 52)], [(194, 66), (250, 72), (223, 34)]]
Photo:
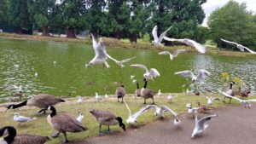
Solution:
[(105, 45), (102, 41), (102, 38), (100, 38), (99, 42), (97, 43), (93, 34), (91, 33), (90, 35), (92, 37), (92, 46), (95, 51), (95, 56), (85, 66), (90, 67), (95, 64), (103, 64), (103, 66), (109, 68), (110, 66), (108, 65), (108, 62), (106, 61), (108, 59), (108, 54), (107, 54)]

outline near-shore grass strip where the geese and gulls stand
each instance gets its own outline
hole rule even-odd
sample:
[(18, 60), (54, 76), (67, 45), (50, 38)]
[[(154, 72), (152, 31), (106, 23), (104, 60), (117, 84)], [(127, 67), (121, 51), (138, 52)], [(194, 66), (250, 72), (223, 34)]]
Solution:
[[(177, 113), (184, 113), (187, 111), (185, 108), (185, 105), (187, 103), (192, 103), (194, 106), (196, 106), (195, 102), (200, 101), (201, 105), (206, 105), (207, 99), (201, 96), (195, 96), (195, 95), (185, 95), (185, 94), (173, 94), (174, 96), (177, 96), (173, 99), (172, 102), (168, 101), (166, 99), (166, 96), (162, 96), (161, 98), (155, 98), (156, 105), (166, 105), (168, 107), (171, 107), (175, 112)], [(221, 95), (214, 95), (216, 97), (223, 98)], [(251, 97), (250, 97), (251, 98)], [(85, 98), (84, 98), (85, 99)], [(90, 100), (92, 98), (89, 98)], [(93, 99), (92, 99), (93, 100)], [(125, 101), (130, 106), (132, 112), (137, 112), (140, 108), (144, 107), (143, 100), (141, 99), (134, 99), (133, 97), (126, 96)], [(148, 104), (150, 104), (152, 101), (147, 100)], [(237, 105), (238, 102), (232, 101), (231, 105)], [(224, 107), (224, 104), (221, 101), (215, 101), (213, 107)], [(115, 97), (112, 98), (110, 101), (100, 101), (100, 102), (94, 102), (94, 101), (84, 101), (82, 104), (77, 104), (76, 100), (69, 99), (66, 103), (62, 103), (58, 106), (56, 106), (57, 113), (68, 113), (72, 115), (74, 118), (78, 116), (78, 112), (84, 113), (84, 119), (83, 119), (83, 125), (86, 125), (89, 130), (82, 132), (82, 133), (68, 133), (67, 138), (71, 141), (73, 140), (81, 140), (90, 136), (96, 136), (98, 135), (98, 128), (99, 125), (96, 123), (96, 119), (93, 118), (90, 115), (90, 110), (92, 109), (98, 109), (98, 110), (109, 110), (112, 111), (116, 116), (122, 117), (125, 121), (125, 119), (128, 116), (128, 111), (124, 104), (118, 103), (117, 99)], [(0, 115), (0, 121), (1, 121), (1, 127), (6, 125), (12, 125), (15, 126), (15, 128), (18, 131), (18, 134), (32, 134), (32, 135), (47, 135), (50, 137), (51, 133), (53, 132), (53, 129), (49, 126), (46, 117), (47, 115), (41, 115), (37, 116), (35, 113), (38, 112), (38, 108), (29, 108), (27, 110), (9, 110), (7, 112), (1, 112)], [(19, 126), (18, 123), (13, 121), (13, 113), (14, 112), (20, 112), (21, 115), (30, 116), (30, 117), (38, 117), (38, 119), (26, 123), (25, 126)], [(166, 113), (167, 118), (171, 118), (172, 115), (169, 113)], [(148, 124), (150, 122), (153, 122), (155, 120), (158, 120), (154, 117), (154, 111), (145, 112), (143, 116), (137, 118), (137, 121), (139, 124), (137, 126), (141, 126), (143, 124)], [(126, 124), (126, 123), (125, 123)], [(129, 125), (126, 124), (126, 126)], [(122, 131), (118, 125), (112, 126), (112, 130), (116, 131)], [(107, 130), (106, 126), (102, 126), (102, 130)], [(58, 138), (55, 138), (51, 141), (49, 141), (49, 144), (53, 143), (59, 143), (64, 138), (63, 135), (60, 135)]]

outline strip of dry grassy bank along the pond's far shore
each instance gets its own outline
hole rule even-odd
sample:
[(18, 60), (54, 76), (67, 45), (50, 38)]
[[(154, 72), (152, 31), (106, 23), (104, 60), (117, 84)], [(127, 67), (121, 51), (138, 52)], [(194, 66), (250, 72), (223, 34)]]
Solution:
[[(13, 38), (13, 39), (24, 39), (24, 40), (38, 40), (38, 41), (53, 41), (61, 43), (80, 43), (80, 44), (91, 44), (90, 37), (84, 38), (66, 38), (66, 37), (43, 37), (43, 36), (32, 36), (32, 35), (19, 35), (14, 33), (0, 33), (0, 37), (3, 38)], [(138, 39), (137, 44), (130, 43), (127, 39), (114, 39), (109, 37), (103, 37), (103, 41), (106, 46), (113, 48), (125, 48), (125, 49), (151, 49), (151, 50), (169, 50), (174, 51), (176, 49), (186, 49), (187, 53), (196, 53), (198, 52), (195, 49), (192, 49), (188, 46), (172, 46), (172, 47), (155, 47), (148, 41), (144, 39)], [(207, 55), (225, 55), (225, 56), (253, 56), (250, 53), (239, 52), (239, 51), (228, 51), (228, 50), (219, 50), (214, 46), (207, 46)]]

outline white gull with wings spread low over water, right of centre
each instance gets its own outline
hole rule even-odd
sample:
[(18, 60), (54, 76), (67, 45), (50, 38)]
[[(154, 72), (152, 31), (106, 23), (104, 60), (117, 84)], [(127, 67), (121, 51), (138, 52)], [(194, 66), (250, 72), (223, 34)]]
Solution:
[(175, 72), (175, 74), (178, 74), (182, 77), (190, 77), (192, 79), (192, 82), (200, 82), (201, 80), (207, 78), (207, 76), (210, 76), (210, 72), (207, 72), (206, 70), (199, 70), (197, 76), (195, 76), (191, 71), (182, 71), (182, 72)]

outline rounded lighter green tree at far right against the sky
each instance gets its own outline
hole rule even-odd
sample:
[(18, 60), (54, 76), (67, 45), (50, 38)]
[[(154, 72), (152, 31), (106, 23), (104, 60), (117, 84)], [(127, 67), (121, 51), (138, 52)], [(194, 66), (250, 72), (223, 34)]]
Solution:
[(234, 45), (222, 43), (220, 38), (241, 43), (247, 47), (256, 47), (256, 26), (253, 13), (247, 11), (246, 3), (230, 1), (222, 8), (212, 12), (208, 20), (210, 34), (218, 47), (236, 49)]

